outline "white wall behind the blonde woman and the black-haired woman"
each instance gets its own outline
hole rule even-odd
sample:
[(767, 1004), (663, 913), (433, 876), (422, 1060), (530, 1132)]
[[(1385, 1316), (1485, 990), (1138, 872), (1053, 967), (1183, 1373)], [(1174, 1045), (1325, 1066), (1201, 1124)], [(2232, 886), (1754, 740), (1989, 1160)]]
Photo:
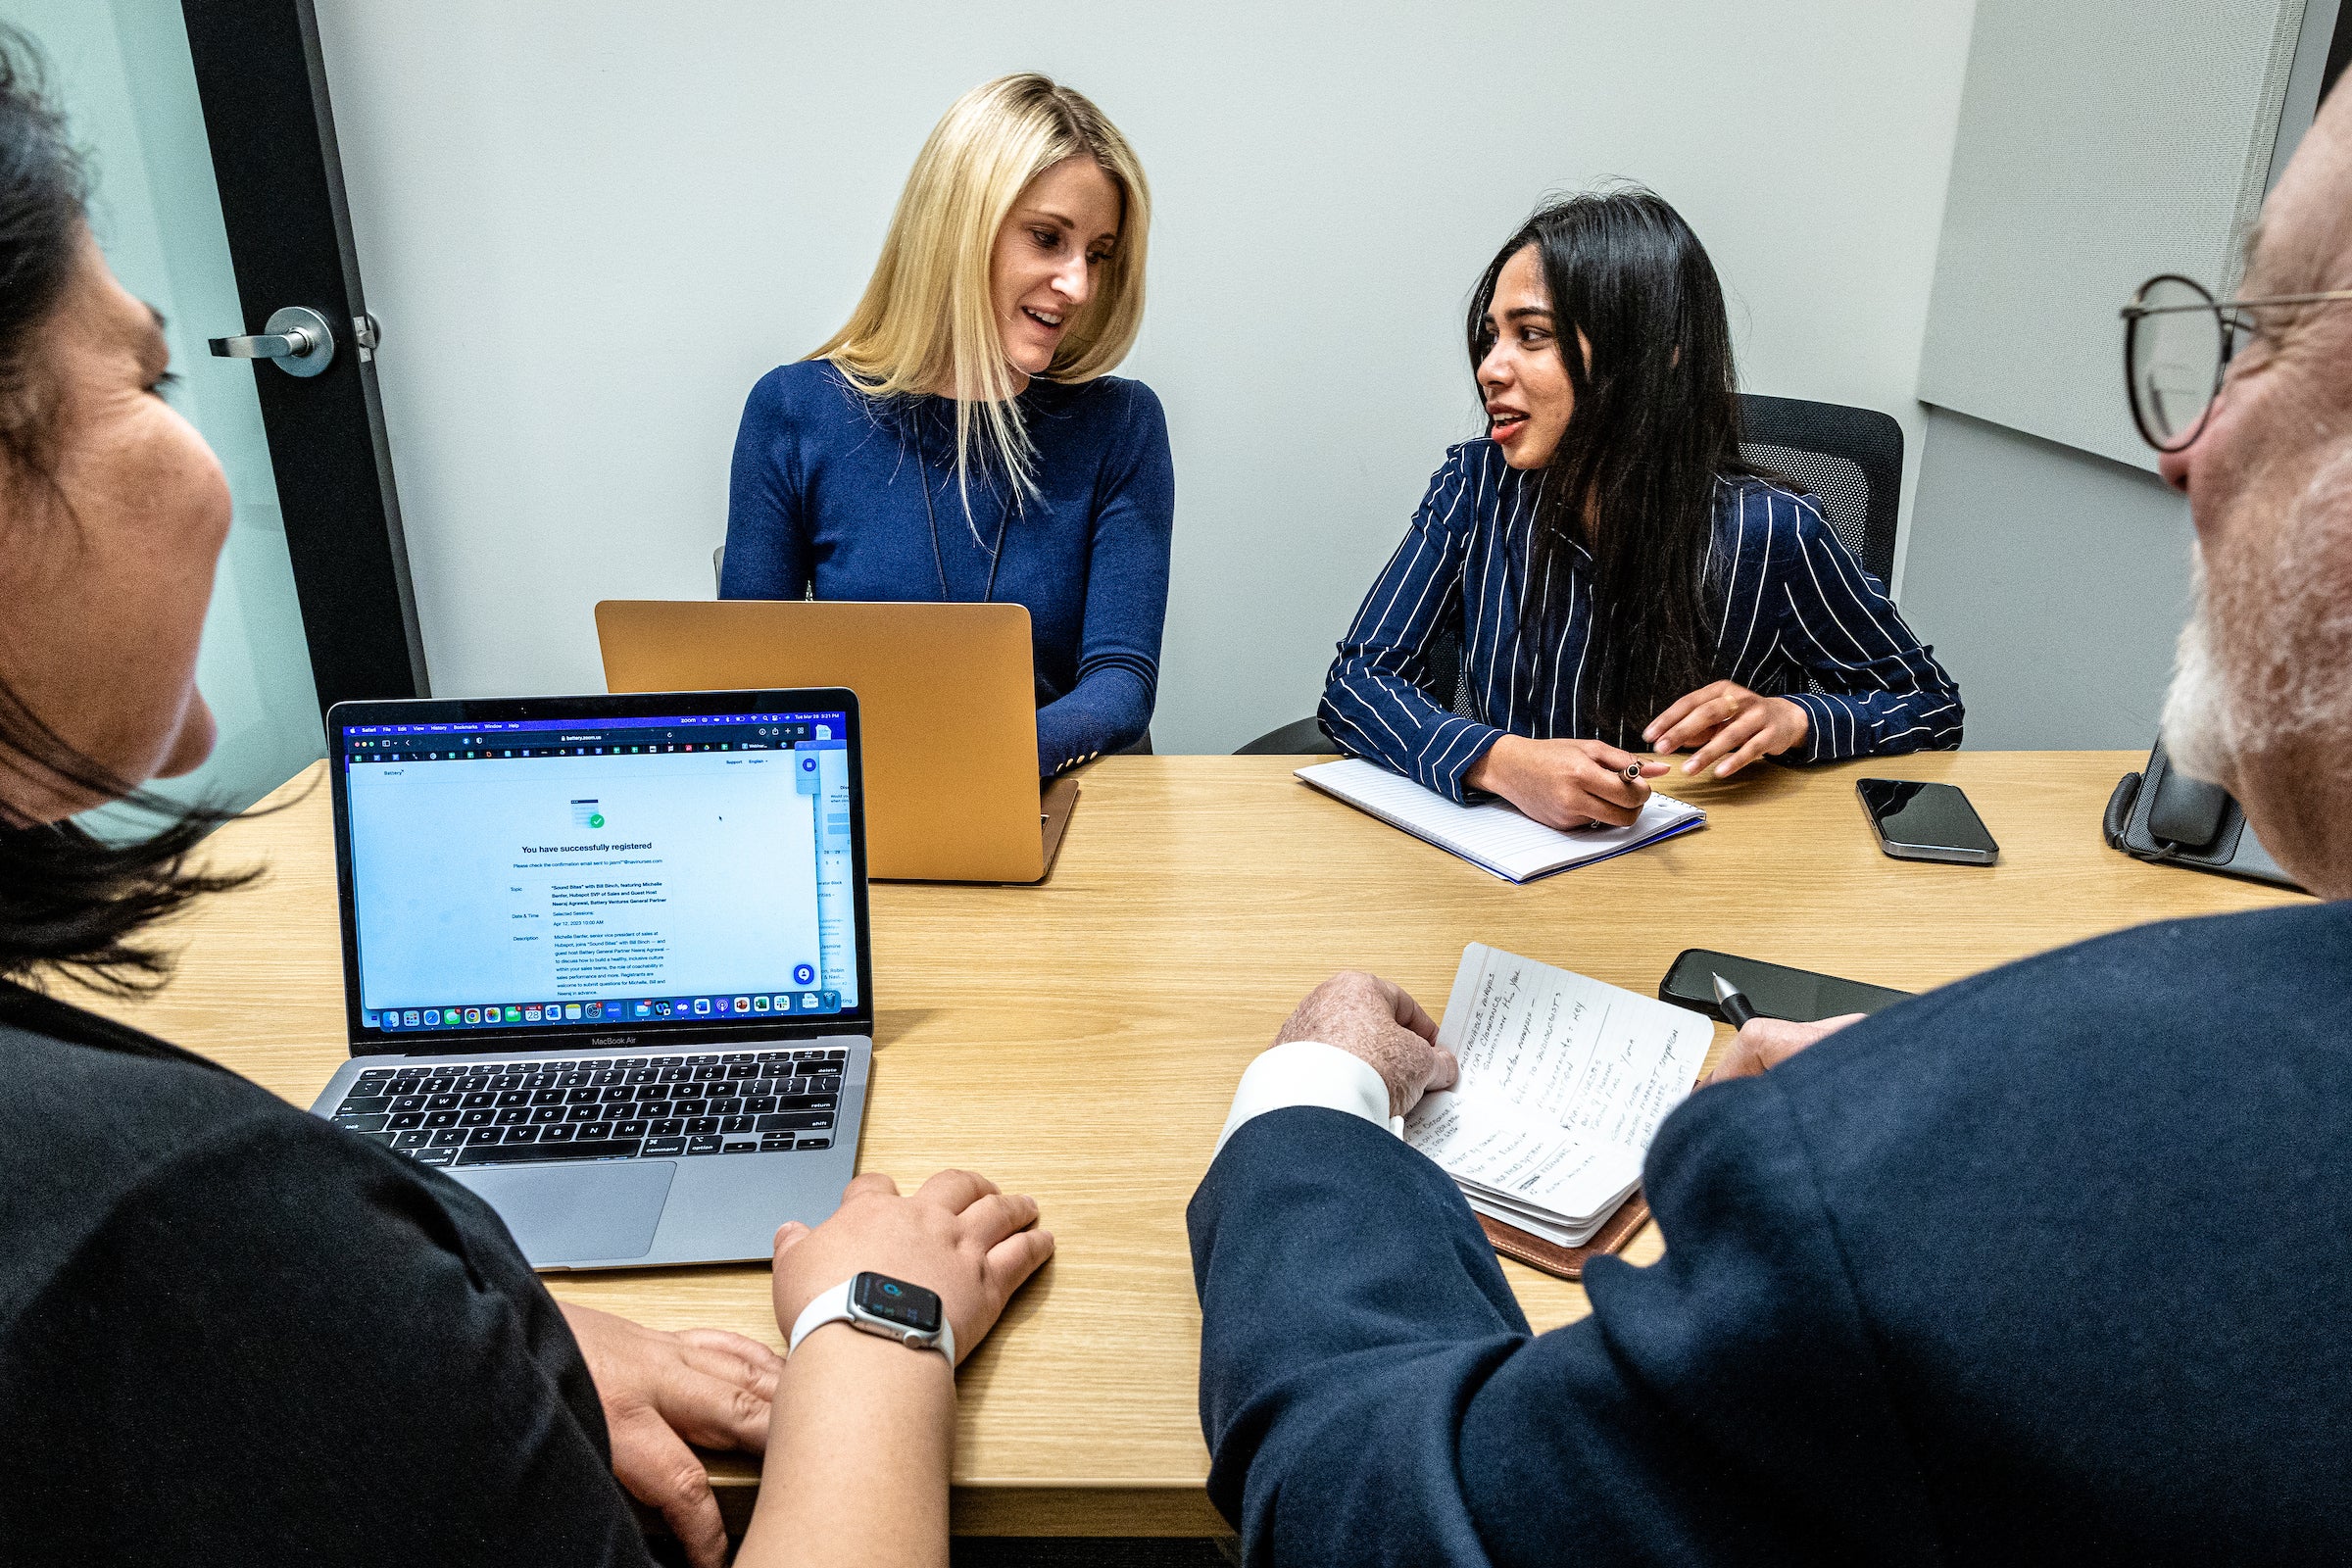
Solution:
[(595, 599), (710, 595), (746, 390), (847, 315), (938, 113), (1016, 68), (1152, 179), (1122, 371), (1176, 447), (1160, 750), (1312, 708), (1479, 428), (1461, 310), (1545, 190), (1656, 186), (1750, 390), (1919, 433), (1971, 0), (318, 12), (440, 693), (595, 691)]

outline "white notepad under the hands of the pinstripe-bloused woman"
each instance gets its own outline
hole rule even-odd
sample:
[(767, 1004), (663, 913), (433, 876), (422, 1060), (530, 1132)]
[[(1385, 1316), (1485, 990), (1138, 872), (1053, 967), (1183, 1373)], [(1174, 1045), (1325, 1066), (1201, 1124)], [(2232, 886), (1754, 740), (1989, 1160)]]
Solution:
[(1630, 827), (1559, 832), (1522, 816), (1517, 806), (1501, 799), (1456, 806), (1444, 795), (1423, 790), (1411, 778), (1362, 757), (1317, 762), (1298, 769), (1298, 778), (1508, 882), (1529, 882), (1571, 865), (1592, 865), (1708, 823), (1708, 813), (1698, 806), (1651, 795)]

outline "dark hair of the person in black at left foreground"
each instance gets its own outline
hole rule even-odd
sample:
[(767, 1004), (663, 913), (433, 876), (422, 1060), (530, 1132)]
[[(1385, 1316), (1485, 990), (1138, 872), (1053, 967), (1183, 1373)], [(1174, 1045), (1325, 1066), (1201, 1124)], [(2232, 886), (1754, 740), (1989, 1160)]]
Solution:
[[(64, 118), (42, 92), (38, 52), (0, 26), (0, 550), (24, 529), (75, 527), (56, 489), (56, 367), (40, 357), (80, 259), (87, 186)], [(16, 536), (14, 541), (9, 536)], [(35, 792), (122, 799), (162, 818), (113, 842), (78, 823), (9, 820), (0, 809), (0, 978), (45, 971), (136, 992), (169, 976), (139, 933), (191, 898), (249, 875), (205, 875), (188, 851), (228, 813), (176, 806), (75, 750), (0, 672), (0, 771)]]

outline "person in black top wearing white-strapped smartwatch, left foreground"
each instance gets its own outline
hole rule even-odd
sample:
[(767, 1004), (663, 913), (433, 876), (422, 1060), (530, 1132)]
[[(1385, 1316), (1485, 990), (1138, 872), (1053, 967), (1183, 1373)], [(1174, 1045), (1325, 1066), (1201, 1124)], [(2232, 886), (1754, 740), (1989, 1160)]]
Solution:
[[(35, 990), (162, 983), (148, 924), (242, 877), (186, 865), (219, 813), (143, 792), (212, 750), (228, 487), (28, 61), (0, 28), (0, 1556), (647, 1563), (635, 1493), (717, 1568), (691, 1441), (767, 1448), (739, 1563), (943, 1566), (943, 1354), (557, 1307), (440, 1171)], [(167, 825), (68, 820), (106, 799)], [(873, 1269), (936, 1291), (964, 1352), (1051, 1251), (1035, 1218), (967, 1173), (858, 1175), (779, 1232), (779, 1321)]]

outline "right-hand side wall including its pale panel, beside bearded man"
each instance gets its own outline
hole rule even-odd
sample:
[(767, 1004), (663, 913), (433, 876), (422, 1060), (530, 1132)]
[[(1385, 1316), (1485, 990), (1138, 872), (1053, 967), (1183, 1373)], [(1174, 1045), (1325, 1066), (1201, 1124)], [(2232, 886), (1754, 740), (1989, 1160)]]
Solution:
[[(2296, 5), (1976, 12), (1903, 571), (1905, 616), (1966, 693), (1971, 748), (2154, 741), (2190, 609), (2190, 503), (2131, 428), (2114, 310), (2157, 270), (2227, 292), (2239, 179), (2267, 160), (2277, 181), (2319, 103), (2338, 0), (2300, 5), (2272, 99), (2272, 26)], [(2131, 47), (2103, 47), (2119, 38)], [(2023, 120), (2013, 101), (2049, 108)]]

